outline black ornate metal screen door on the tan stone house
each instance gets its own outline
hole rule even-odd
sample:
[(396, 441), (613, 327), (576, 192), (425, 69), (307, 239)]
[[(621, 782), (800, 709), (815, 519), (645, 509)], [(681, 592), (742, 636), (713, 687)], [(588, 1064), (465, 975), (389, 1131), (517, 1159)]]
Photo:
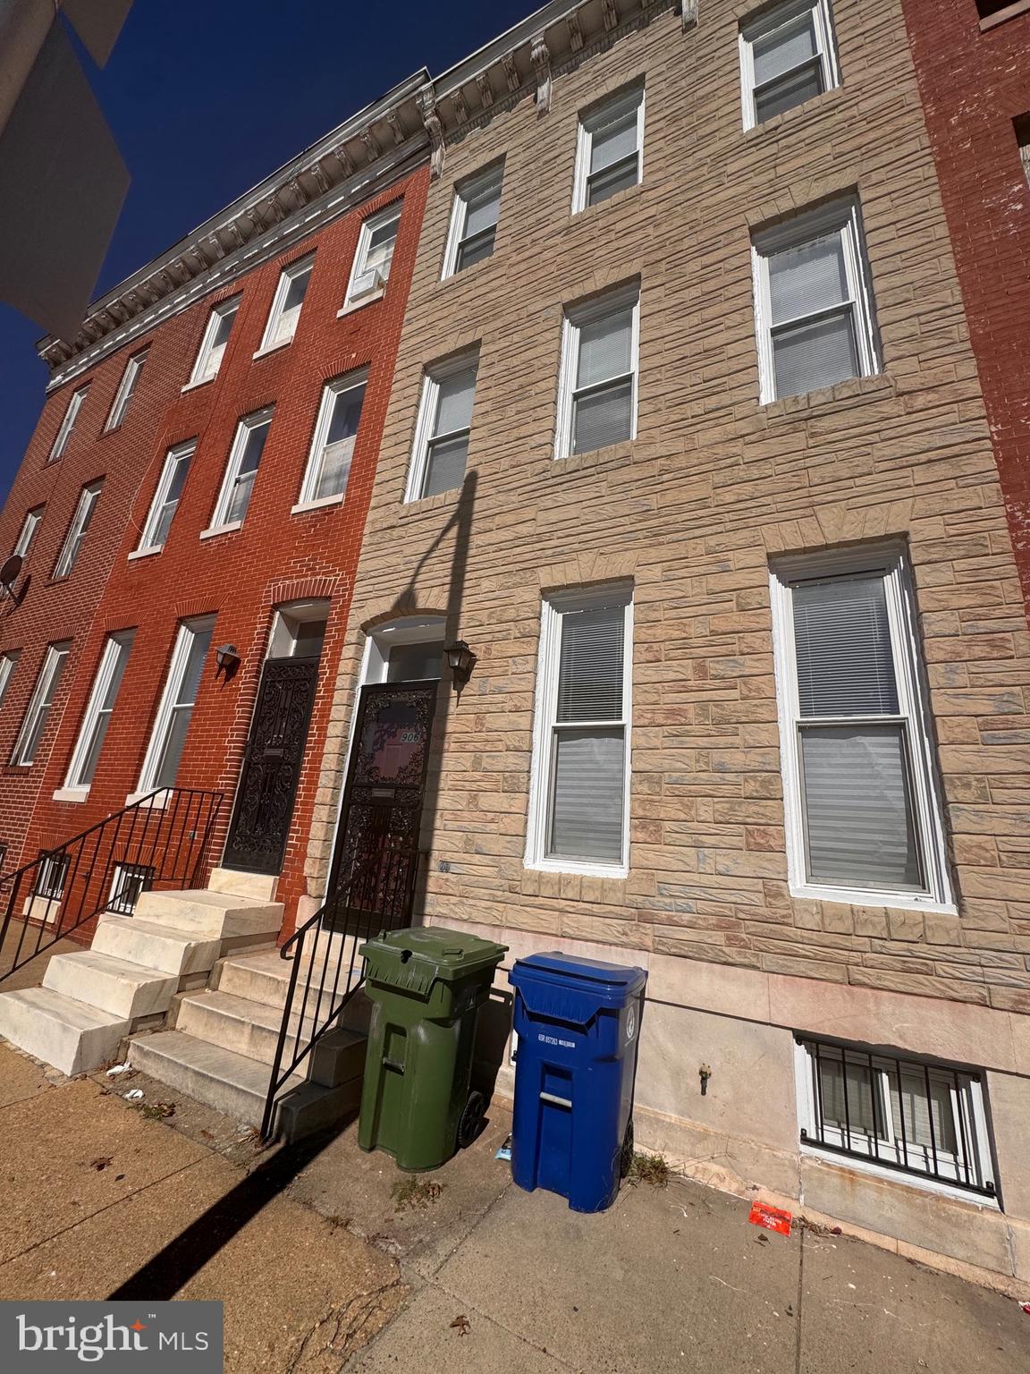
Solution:
[(330, 875), (342, 927), (349, 914), (393, 927), (411, 916), (435, 706), (435, 682), (361, 690)]

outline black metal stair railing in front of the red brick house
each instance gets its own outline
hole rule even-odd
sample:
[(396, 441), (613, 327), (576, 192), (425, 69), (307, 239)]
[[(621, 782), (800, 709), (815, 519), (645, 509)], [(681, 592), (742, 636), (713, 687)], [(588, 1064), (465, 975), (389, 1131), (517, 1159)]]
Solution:
[(148, 888), (199, 886), (221, 802), (220, 791), (159, 787), (3, 874), (0, 954), (11, 925), (21, 932), (0, 982), (102, 911), (130, 912)]

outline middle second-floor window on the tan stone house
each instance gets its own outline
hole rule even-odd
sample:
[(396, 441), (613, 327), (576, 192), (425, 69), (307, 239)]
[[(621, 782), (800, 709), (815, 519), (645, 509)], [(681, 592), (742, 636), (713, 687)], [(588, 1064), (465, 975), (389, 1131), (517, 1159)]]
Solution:
[(566, 311), (555, 458), (636, 437), (639, 337), (636, 286)]

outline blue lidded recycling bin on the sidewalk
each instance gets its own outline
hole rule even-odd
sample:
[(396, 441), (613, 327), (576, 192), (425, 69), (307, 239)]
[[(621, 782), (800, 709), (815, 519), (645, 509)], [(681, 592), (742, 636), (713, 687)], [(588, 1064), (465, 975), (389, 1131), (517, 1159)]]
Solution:
[(574, 1212), (615, 1201), (633, 1151), (643, 969), (563, 954), (516, 960), (511, 1173)]

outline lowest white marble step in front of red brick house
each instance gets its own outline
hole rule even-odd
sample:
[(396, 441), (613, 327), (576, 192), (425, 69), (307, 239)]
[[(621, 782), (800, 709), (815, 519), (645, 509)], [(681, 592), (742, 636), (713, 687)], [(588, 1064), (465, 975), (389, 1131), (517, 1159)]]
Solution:
[(0, 993), (0, 1036), (69, 1076), (113, 1059), (129, 1025), (52, 988)]

